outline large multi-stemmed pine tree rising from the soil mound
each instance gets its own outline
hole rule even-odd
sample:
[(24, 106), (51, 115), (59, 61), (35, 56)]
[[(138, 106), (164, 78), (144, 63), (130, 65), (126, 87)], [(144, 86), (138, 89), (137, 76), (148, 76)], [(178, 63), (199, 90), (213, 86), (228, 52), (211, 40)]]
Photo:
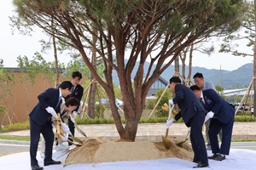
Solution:
[[(53, 21), (55, 37), (79, 51), (91, 74), (108, 94), (120, 138), (131, 141), (136, 138), (137, 125), (149, 88), (172, 64), (177, 54), (192, 42), (236, 31), (241, 25), (240, 19), (245, 10), (245, 4), (241, 0), (13, 2), (20, 20), (33, 23), (49, 34), (49, 23)], [(96, 44), (96, 53), (104, 65), (104, 79), (98, 75), (84, 49), (88, 44), (95, 46), (91, 37), (94, 34), (99, 42)], [(144, 71), (146, 59), (149, 59), (150, 64), (148, 70)], [(138, 69), (135, 71), (135, 78), (131, 80), (137, 60), (140, 61)], [(156, 66), (152, 70), (154, 63)], [(113, 70), (119, 77), (125, 127), (115, 106)]]

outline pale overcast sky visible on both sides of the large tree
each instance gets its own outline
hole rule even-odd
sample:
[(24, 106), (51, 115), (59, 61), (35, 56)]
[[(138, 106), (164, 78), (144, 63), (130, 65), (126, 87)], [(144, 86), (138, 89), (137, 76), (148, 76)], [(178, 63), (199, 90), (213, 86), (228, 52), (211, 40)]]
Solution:
[[(15, 14), (13, 12), (12, 6), (13, 0), (5, 0), (2, 1), (0, 6), (0, 18), (1, 18), (1, 26), (0, 26), (0, 37), (1, 37), (1, 45), (0, 45), (0, 59), (3, 59), (3, 65), (5, 67), (16, 67), (17, 66), (17, 57), (20, 55), (21, 57), (27, 56), (29, 59), (32, 59), (32, 56), (35, 52), (40, 52), (41, 46), (38, 42), (42, 38), (46, 39), (47, 37), (42, 33), (42, 31), (38, 30), (32, 33), (32, 37), (22, 36), (18, 31), (15, 31), (15, 34), (12, 35), (11, 27), (9, 26), (9, 16)], [(236, 70), (241, 65), (245, 65), (247, 63), (253, 63), (253, 57), (236, 57), (231, 54), (219, 54), (220, 42), (217, 40), (214, 42), (216, 52), (211, 54), (211, 56), (207, 56), (206, 54), (194, 54), (193, 57), (193, 66), (205, 67), (207, 69), (222, 69), (227, 71)], [(252, 50), (250, 48), (246, 48), (246, 42), (241, 42), (243, 47), (243, 51)], [(253, 54), (253, 52), (251, 53)], [(49, 54), (43, 54), (43, 57), (46, 61), (53, 61), (53, 54), (49, 51)], [(62, 63), (67, 63), (69, 61), (69, 57), (66, 54), (59, 54), (59, 59), (61, 59)], [(187, 63), (188, 64), (188, 63)]]

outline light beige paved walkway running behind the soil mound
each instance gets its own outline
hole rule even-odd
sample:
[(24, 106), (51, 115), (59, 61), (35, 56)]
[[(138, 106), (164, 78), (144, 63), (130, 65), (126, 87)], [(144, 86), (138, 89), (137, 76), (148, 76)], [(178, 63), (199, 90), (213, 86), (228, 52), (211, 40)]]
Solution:
[[(79, 125), (87, 137), (103, 137), (106, 139), (119, 139), (119, 133), (114, 124)], [(184, 138), (188, 133), (188, 127), (184, 123), (175, 122), (169, 129), (169, 136)], [(166, 134), (166, 123), (140, 123), (137, 129), (137, 140), (150, 139), (161, 140), (161, 135)], [(0, 136), (26, 136), (29, 137), (29, 130), (0, 133)], [(78, 138), (84, 138), (76, 131)], [(235, 122), (232, 139), (256, 139), (256, 122)], [(3, 140), (2, 140), (3, 141)]]

